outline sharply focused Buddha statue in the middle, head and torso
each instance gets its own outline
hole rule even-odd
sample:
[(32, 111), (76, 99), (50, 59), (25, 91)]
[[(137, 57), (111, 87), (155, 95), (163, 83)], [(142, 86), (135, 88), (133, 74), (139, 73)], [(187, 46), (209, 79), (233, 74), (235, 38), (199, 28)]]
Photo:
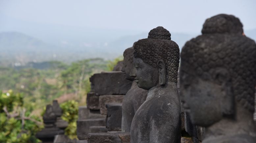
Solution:
[(177, 91), (179, 47), (163, 27), (134, 45), (135, 82), (147, 90), (131, 125), (131, 143), (180, 143), (181, 109)]

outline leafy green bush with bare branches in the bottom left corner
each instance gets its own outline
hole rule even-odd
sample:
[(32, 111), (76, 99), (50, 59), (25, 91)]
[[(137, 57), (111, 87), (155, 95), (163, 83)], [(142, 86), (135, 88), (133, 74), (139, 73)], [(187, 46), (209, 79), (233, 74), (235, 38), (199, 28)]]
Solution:
[(23, 97), (12, 90), (0, 92), (0, 142), (6, 143), (35, 143), (35, 137), (42, 128), (39, 117), (31, 115), (23, 107)]

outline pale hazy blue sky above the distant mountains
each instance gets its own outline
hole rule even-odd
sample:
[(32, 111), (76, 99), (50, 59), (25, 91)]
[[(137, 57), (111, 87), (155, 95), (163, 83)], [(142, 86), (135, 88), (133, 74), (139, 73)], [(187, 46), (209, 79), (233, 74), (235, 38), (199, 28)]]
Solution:
[(0, 27), (11, 18), (116, 30), (163, 26), (171, 32), (199, 33), (206, 18), (227, 13), (250, 30), (256, 29), (255, 7), (255, 0), (0, 0)]

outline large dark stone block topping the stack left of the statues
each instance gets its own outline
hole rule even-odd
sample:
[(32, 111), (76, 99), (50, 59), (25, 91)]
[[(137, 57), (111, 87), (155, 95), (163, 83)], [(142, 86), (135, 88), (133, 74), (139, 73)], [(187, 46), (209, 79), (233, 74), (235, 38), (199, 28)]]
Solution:
[(123, 72), (95, 73), (90, 77), (90, 82), (96, 95), (126, 94), (132, 85)]

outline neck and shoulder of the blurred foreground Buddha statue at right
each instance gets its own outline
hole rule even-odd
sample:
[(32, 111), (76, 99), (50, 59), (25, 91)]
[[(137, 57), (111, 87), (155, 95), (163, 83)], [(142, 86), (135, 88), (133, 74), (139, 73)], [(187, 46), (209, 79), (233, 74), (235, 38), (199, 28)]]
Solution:
[(235, 119), (223, 118), (205, 129), (205, 139), (247, 134), (256, 136), (253, 114), (237, 104)]

